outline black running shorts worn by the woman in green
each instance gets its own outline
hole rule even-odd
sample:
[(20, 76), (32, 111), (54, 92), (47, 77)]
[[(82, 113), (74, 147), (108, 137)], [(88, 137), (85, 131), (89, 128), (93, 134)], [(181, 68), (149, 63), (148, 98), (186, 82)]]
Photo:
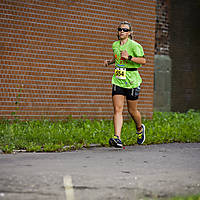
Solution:
[(117, 85), (112, 87), (112, 96), (123, 95), (127, 100), (137, 100), (139, 98), (140, 86), (132, 89), (122, 88)]

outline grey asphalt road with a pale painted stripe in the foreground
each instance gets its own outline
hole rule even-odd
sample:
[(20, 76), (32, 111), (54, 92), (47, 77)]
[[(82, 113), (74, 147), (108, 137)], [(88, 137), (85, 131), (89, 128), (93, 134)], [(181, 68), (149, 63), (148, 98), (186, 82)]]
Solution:
[(200, 193), (200, 144), (0, 154), (1, 200), (142, 200)]

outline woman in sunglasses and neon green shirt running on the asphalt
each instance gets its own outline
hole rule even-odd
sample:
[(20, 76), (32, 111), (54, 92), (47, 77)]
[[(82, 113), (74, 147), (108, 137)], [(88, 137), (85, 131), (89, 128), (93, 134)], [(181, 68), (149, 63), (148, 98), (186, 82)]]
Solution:
[(146, 63), (142, 46), (132, 40), (131, 24), (127, 21), (120, 23), (118, 27), (118, 41), (114, 42), (113, 58), (105, 60), (104, 66), (115, 63), (115, 73), (112, 77), (112, 101), (114, 107), (114, 137), (109, 144), (122, 148), (121, 129), (123, 125), (123, 107), (126, 98), (128, 112), (136, 125), (137, 143), (145, 141), (145, 126), (142, 124), (141, 114), (137, 110), (140, 84), (142, 79), (138, 68)]

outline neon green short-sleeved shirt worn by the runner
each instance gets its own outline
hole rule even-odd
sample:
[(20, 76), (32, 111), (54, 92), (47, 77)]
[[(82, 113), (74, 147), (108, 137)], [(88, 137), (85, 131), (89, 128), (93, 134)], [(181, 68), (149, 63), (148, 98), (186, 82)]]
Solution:
[[(141, 64), (135, 63), (130, 60), (123, 60), (121, 58), (121, 52), (126, 50), (129, 55), (133, 57), (143, 57), (144, 51), (142, 46), (137, 43), (136, 41), (133, 41), (131, 39), (128, 39), (128, 41), (124, 45), (120, 45), (120, 41), (116, 41), (112, 45), (113, 48), (113, 54), (115, 57), (115, 67), (116, 68), (139, 68), (141, 67)], [(136, 88), (142, 83), (142, 78), (140, 77), (140, 74), (138, 71), (126, 71), (126, 78), (125, 79), (119, 79), (116, 78), (116, 75), (114, 73), (112, 77), (112, 84), (115, 84), (117, 86), (123, 87), (123, 88)]]

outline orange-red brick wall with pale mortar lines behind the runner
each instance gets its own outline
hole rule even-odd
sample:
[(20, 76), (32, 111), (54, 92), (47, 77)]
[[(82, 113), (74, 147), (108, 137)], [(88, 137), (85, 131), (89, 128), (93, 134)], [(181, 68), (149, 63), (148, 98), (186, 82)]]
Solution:
[[(119, 22), (132, 23), (147, 64), (139, 110), (153, 111), (155, 0), (0, 0), (0, 117), (111, 119)], [(127, 117), (127, 108), (125, 108)]]

